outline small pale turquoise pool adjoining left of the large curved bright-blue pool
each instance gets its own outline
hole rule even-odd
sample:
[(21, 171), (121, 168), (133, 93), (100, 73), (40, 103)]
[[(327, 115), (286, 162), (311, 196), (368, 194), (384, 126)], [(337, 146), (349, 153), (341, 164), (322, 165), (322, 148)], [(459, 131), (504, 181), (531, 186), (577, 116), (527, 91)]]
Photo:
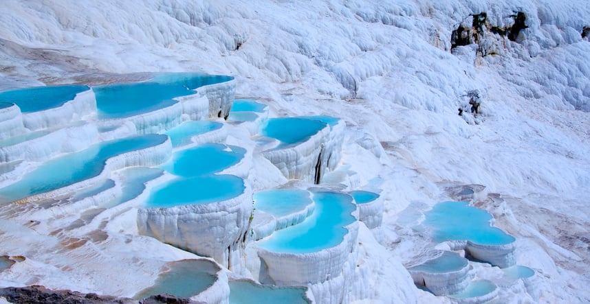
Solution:
[(308, 191), (298, 189), (271, 189), (254, 194), (254, 207), (277, 217), (305, 209), (312, 204)]

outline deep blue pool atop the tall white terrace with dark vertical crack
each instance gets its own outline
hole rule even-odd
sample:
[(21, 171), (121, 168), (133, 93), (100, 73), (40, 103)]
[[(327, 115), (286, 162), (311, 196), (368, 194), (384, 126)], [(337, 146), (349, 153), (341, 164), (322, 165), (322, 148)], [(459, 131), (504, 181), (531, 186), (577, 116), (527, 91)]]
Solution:
[(262, 135), (287, 144), (301, 143), (326, 126), (325, 122), (319, 120), (298, 117), (272, 118), (268, 119), (267, 125), (262, 130)]

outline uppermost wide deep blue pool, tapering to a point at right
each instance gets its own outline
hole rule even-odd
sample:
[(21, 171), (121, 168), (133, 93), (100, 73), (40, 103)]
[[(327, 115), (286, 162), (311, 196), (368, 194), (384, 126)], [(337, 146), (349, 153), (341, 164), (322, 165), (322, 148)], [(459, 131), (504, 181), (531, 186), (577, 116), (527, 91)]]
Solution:
[(149, 113), (177, 103), (174, 97), (195, 94), (200, 86), (232, 79), (200, 73), (158, 73), (149, 82), (97, 86), (94, 92), (98, 118), (119, 119)]

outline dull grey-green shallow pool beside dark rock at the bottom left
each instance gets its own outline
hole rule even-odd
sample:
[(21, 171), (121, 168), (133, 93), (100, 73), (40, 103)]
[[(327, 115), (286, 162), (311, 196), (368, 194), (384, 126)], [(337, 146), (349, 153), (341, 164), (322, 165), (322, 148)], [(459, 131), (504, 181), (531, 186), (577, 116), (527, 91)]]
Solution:
[(176, 261), (168, 272), (160, 274), (155, 284), (133, 296), (133, 299), (145, 299), (155, 294), (171, 294), (182, 298), (195, 296), (217, 281), (219, 266), (212, 261), (184, 260)]

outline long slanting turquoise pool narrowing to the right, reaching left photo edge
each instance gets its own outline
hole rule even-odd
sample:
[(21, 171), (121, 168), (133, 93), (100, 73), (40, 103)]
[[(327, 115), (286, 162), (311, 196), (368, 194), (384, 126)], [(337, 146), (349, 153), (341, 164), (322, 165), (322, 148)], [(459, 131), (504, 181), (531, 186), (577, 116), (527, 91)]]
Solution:
[(21, 180), (0, 189), (0, 202), (12, 202), (35, 194), (52, 191), (98, 176), (107, 159), (164, 143), (166, 135), (143, 135), (105, 141), (86, 150), (66, 154), (43, 163)]

